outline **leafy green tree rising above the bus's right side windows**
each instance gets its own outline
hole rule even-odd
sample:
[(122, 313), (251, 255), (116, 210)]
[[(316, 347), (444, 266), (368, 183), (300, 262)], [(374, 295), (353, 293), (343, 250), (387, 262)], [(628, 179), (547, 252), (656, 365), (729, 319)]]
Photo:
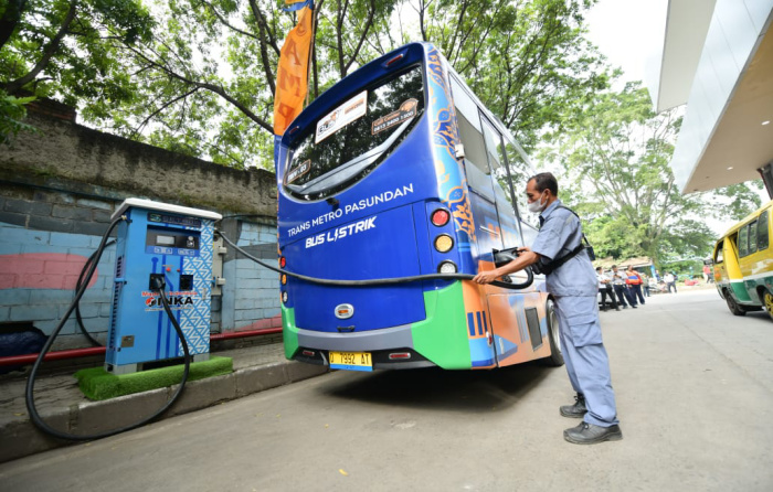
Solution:
[(422, 0), (424, 40), (440, 46), (483, 103), (527, 149), (560, 127), (611, 71), (583, 38), (595, 0)]

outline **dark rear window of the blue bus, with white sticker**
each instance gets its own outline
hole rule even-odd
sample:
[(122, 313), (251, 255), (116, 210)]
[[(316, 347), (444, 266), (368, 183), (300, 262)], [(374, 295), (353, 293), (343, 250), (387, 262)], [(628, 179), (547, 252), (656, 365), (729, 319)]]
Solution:
[(285, 189), (299, 199), (320, 200), (348, 188), (375, 169), (423, 113), (421, 66), (358, 92), (292, 149)]

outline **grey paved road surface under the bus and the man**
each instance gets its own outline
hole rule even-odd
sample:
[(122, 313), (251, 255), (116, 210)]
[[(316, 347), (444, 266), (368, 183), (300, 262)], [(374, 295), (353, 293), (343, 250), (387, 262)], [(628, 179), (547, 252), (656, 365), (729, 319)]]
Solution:
[(563, 441), (563, 368), (336, 372), (1, 464), (0, 489), (773, 490), (766, 313), (680, 291), (602, 324), (618, 442)]

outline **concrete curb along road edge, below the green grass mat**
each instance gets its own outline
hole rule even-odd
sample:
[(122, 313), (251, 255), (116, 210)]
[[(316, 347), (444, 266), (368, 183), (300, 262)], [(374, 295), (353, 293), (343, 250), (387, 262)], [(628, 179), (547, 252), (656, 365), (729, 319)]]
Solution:
[[(222, 402), (284, 386), (328, 372), (327, 366), (295, 361), (244, 367), (223, 376), (186, 384), (180, 399), (156, 421), (200, 410)], [(41, 411), (51, 427), (68, 434), (97, 434), (126, 426), (156, 411), (177, 386), (120, 396), (104, 402), (75, 404), (55, 411)], [(77, 443), (45, 435), (25, 415), (0, 427), (0, 463)]]

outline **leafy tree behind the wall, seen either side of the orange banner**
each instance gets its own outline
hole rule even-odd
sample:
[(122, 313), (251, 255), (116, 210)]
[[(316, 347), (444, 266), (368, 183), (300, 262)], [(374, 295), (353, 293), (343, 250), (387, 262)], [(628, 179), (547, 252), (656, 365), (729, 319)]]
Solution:
[[(357, 66), (377, 13), (389, 14), (392, 3), (317, 2), (311, 97)], [(126, 46), (126, 63), (146, 83), (100, 124), (227, 165), (273, 167), (275, 73), (294, 14), (257, 0), (177, 0), (155, 13), (153, 39)]]

